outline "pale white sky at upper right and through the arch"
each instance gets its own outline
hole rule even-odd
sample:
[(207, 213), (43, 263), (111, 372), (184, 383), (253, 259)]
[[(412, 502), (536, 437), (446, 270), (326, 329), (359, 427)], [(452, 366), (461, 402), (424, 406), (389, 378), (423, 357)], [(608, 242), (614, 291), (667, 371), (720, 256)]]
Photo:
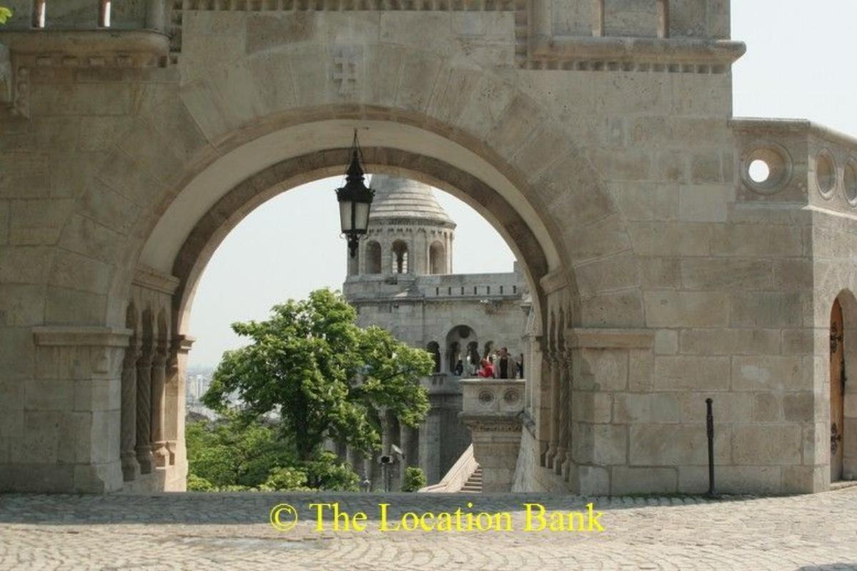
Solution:
[[(747, 53), (733, 68), (734, 116), (810, 119), (857, 136), (854, 0), (733, 0), (732, 37)], [(220, 245), (197, 288), (189, 366), (215, 366), (240, 347), (230, 324), (264, 319), (276, 303), (341, 288), (345, 241), (333, 189), (339, 177), (282, 193), (244, 218)], [(514, 257), (470, 206), (435, 191), (458, 223), (458, 273), (511, 271)]]

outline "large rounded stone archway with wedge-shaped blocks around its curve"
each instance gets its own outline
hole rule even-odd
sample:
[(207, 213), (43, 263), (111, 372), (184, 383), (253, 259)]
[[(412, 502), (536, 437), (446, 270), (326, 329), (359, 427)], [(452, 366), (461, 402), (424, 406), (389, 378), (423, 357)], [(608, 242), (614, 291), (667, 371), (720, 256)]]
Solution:
[[(255, 65), (252, 58), (249, 65)], [(460, 77), (458, 71), (449, 74), (450, 81)], [(302, 182), (341, 174), (347, 162), (343, 143), (358, 128), (369, 170), (452, 192), (494, 224), (523, 261), (533, 306), (542, 316), (537, 323), (555, 305), (571, 307), (568, 326), (643, 324), (638, 279), (631, 287), (614, 288), (575, 276), (576, 265), (584, 262), (608, 273), (626, 264), (630, 250), (624, 223), (589, 159), (523, 92), (484, 70), (466, 74), (468, 81), (490, 86), (487, 97), (499, 110), (469, 106), (462, 115), (460, 94), (433, 104), (346, 98), (307, 106), (284, 100), (249, 110), (246, 101), (253, 96), (231, 91), (220, 74), (183, 84), (138, 117), (93, 175), (93, 194), (123, 200), (106, 209), (104, 201), (88, 195), (75, 201), (63, 241), (77, 253), (103, 259), (106, 274), (91, 284), (97, 289), (94, 311), (69, 307), (81, 311), (75, 322), (123, 330), (133, 288), (171, 297), (175, 337), (165, 374), (178, 394), (167, 410), (179, 417), (172, 425), (182, 434), (182, 390), (174, 384), (182, 383), (189, 349), (186, 313), (207, 259), (256, 205)], [(244, 88), (261, 86), (251, 82)], [(110, 233), (93, 224), (106, 219)], [(63, 279), (56, 276), (65, 262), (57, 256), (49, 272), (60, 284), (49, 298), (63, 295)], [(534, 437), (548, 438), (539, 428)], [(183, 449), (174, 455), (181, 465)], [(118, 454), (115, 463), (81, 488), (116, 489)]]

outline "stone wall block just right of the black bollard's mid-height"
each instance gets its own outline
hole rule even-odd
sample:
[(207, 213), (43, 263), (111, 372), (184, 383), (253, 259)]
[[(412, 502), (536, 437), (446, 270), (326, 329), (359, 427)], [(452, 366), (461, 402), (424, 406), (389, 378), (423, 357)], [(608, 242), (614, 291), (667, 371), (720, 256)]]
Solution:
[(737, 465), (800, 464), (800, 425), (734, 425), (731, 442), (732, 461)]

